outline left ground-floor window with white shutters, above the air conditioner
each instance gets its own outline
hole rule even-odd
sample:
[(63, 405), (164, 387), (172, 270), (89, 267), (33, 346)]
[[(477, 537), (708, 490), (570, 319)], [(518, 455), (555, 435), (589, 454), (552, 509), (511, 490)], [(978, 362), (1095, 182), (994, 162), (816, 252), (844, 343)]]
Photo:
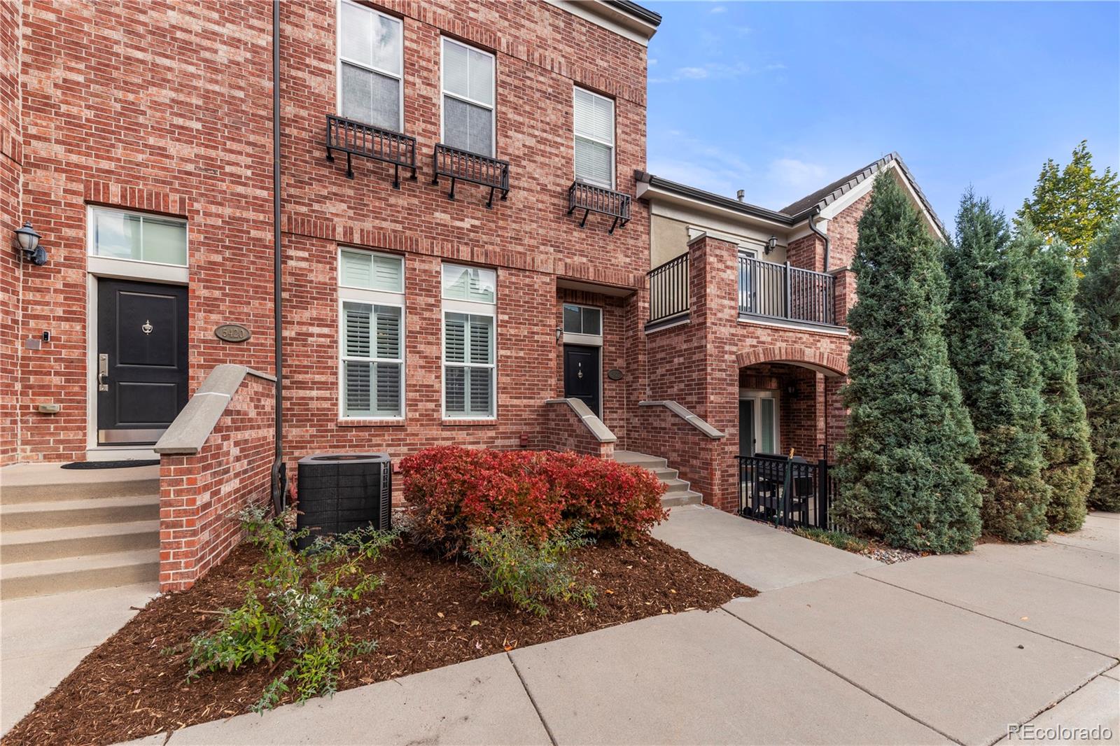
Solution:
[(404, 417), (404, 259), (338, 251), (338, 391), (343, 419)]

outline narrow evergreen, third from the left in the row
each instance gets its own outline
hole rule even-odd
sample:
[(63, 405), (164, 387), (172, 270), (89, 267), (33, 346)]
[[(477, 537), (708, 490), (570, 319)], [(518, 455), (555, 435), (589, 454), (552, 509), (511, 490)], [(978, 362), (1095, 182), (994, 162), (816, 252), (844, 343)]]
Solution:
[(1077, 278), (1067, 248), (1062, 243), (1047, 245), (1032, 225), (1020, 227), (1016, 243), (1034, 274), (1027, 338), (1042, 374), (1043, 479), (1051, 487), (1046, 520), (1053, 531), (1076, 531), (1085, 521), (1085, 498), (1093, 485), (1093, 451), (1089, 448), (1085, 404), (1077, 393), (1073, 351)]

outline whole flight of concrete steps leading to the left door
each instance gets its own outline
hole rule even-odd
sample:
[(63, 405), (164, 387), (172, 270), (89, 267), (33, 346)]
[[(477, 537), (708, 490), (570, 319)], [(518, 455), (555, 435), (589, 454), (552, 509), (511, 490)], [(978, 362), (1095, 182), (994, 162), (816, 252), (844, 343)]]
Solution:
[(0, 598), (158, 579), (158, 466), (0, 470)]

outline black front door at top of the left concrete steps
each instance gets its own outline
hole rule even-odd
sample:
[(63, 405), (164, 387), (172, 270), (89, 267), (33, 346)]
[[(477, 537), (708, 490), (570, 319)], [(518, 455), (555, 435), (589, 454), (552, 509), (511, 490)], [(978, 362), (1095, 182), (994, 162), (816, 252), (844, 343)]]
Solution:
[(187, 403), (187, 289), (97, 281), (97, 442), (152, 444)]

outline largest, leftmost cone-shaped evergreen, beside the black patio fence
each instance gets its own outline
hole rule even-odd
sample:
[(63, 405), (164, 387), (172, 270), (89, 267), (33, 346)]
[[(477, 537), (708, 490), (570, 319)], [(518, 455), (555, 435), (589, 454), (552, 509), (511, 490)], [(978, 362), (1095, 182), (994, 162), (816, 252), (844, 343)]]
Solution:
[(963, 552), (980, 535), (972, 425), (949, 363), (937, 243), (889, 174), (876, 177), (852, 261), (838, 521), (894, 547)]

